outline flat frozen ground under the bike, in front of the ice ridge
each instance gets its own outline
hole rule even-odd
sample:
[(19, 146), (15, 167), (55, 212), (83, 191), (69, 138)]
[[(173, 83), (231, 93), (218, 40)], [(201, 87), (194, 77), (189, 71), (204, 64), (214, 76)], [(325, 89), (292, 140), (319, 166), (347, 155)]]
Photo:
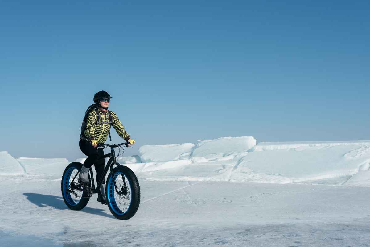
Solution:
[(60, 181), (0, 184), (9, 246), (369, 246), (369, 187), (140, 180), (139, 210), (121, 221), (96, 195), (69, 210)]

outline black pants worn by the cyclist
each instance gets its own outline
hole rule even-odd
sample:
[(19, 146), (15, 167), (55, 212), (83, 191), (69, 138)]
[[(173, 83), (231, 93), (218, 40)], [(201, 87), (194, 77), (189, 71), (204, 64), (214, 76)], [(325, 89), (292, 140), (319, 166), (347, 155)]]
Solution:
[[(90, 168), (95, 164), (96, 183), (98, 183), (104, 172), (104, 158), (102, 158), (104, 156), (103, 148), (92, 146), (90, 141), (80, 140), (80, 149), (87, 156), (84, 167)], [(102, 183), (105, 184), (105, 178)]]

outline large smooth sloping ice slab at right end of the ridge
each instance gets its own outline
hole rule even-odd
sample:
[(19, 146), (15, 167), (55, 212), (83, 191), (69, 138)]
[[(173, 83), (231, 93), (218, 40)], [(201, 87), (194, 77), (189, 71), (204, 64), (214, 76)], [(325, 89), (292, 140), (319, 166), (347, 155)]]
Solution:
[(346, 157), (358, 148), (362, 147), (348, 144), (250, 152), (239, 167), (287, 177), (292, 182), (342, 177), (357, 173), (361, 164), (370, 161), (370, 155)]

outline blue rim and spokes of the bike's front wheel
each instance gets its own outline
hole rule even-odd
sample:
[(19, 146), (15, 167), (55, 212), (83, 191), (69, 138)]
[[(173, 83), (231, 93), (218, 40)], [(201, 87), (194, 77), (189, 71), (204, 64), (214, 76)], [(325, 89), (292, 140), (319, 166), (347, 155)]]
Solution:
[[(126, 195), (118, 195), (114, 188), (113, 179), (116, 180), (118, 190), (121, 190), (124, 187), (124, 183), (122, 180), (122, 176), (126, 182), (127, 194)], [(114, 178), (113, 178), (114, 177)], [(108, 195), (107, 200), (110, 208), (114, 211), (114, 213), (118, 215), (123, 215), (127, 213), (131, 206), (132, 194), (131, 194), (131, 184), (129, 183), (127, 177), (121, 171), (117, 171), (114, 173), (114, 176), (111, 176), (108, 180)]]

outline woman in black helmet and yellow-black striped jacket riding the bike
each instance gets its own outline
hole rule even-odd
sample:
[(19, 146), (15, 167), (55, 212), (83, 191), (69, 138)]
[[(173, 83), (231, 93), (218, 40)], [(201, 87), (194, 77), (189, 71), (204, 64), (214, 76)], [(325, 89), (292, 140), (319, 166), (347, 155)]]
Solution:
[[(83, 183), (89, 183), (88, 171), (95, 164), (96, 181), (100, 180), (104, 172), (104, 151), (103, 148), (98, 148), (98, 143), (104, 143), (107, 140), (110, 128), (117, 131), (118, 135), (130, 144), (134, 144), (135, 140), (131, 139), (125, 131), (120, 119), (117, 115), (108, 110), (108, 105), (112, 97), (106, 91), (99, 91), (94, 95), (96, 107), (91, 110), (87, 117), (86, 128), (80, 138), (80, 149), (88, 156), (81, 168), (79, 177)], [(99, 121), (98, 115), (99, 114)], [(102, 204), (107, 204), (105, 198), (105, 179), (99, 188), (98, 201)]]

